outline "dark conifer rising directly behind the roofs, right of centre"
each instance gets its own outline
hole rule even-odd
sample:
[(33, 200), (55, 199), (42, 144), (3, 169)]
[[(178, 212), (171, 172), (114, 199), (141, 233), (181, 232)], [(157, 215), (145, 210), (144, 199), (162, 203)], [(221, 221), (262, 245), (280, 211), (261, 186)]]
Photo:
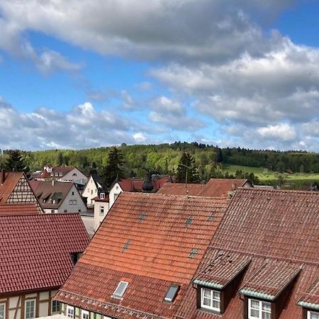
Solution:
[(198, 183), (199, 175), (195, 166), (195, 160), (189, 153), (183, 153), (179, 159), (179, 166), (177, 167), (177, 181), (179, 183)]

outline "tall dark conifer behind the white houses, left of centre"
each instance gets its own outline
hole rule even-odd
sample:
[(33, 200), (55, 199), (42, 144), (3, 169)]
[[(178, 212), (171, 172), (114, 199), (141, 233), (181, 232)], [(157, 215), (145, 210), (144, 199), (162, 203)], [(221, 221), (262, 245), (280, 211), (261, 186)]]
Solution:
[(103, 169), (103, 184), (106, 188), (111, 186), (113, 181), (118, 177), (124, 177), (124, 157), (116, 147), (108, 154), (108, 164)]

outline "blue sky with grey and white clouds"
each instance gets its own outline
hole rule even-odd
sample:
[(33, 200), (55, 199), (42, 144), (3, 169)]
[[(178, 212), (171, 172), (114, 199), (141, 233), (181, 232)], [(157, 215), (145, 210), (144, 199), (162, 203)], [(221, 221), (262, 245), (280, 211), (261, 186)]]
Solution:
[(319, 0), (0, 0), (0, 148), (319, 152)]

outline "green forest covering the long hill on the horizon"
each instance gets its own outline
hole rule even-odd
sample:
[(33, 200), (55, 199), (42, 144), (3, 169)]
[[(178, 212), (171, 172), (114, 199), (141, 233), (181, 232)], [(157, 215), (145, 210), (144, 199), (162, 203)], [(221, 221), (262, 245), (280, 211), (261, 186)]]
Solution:
[[(259, 167), (282, 174), (319, 173), (319, 154), (301, 151), (248, 150), (245, 148), (220, 148), (197, 142), (174, 142), (160, 145), (126, 145), (117, 147), (123, 155), (125, 177), (145, 177), (145, 172), (153, 174), (177, 173), (183, 153), (194, 159), (200, 181), (211, 177), (249, 177), (258, 184), (253, 173), (242, 171), (230, 174), (223, 169), (228, 164), (242, 167)], [(75, 166), (86, 174), (102, 174), (108, 164), (108, 154), (112, 147), (99, 147), (86, 150), (45, 150), (21, 151), (28, 169), (33, 172), (44, 164)], [(1, 150), (0, 166), (9, 157), (11, 150)]]

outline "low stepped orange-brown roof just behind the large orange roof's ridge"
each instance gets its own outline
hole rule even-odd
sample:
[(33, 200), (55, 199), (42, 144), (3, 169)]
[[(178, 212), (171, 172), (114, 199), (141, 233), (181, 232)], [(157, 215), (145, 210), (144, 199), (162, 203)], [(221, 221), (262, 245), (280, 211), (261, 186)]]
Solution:
[(210, 179), (206, 184), (166, 183), (159, 194), (228, 197), (228, 191), (238, 187), (252, 186), (247, 179)]

